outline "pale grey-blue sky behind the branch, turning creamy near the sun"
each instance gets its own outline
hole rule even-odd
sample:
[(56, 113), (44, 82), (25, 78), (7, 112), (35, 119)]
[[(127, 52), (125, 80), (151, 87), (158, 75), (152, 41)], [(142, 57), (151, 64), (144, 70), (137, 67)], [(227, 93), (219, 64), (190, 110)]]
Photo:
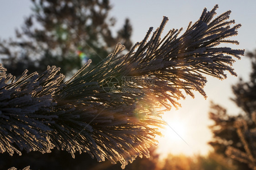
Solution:
[[(256, 48), (256, 1), (255, 0), (110, 0), (113, 10), (110, 15), (117, 18), (117, 24), (114, 30), (122, 27), (124, 19), (129, 18), (133, 25), (133, 42), (140, 41), (144, 38), (148, 28), (153, 26), (156, 29), (163, 16), (169, 17), (169, 22), (165, 27), (165, 32), (172, 28), (179, 29), (186, 27), (189, 21), (195, 22), (199, 19), (202, 10), (206, 7), (211, 10), (215, 4), (219, 5), (217, 15), (226, 10), (231, 10), (231, 20), (241, 23), (239, 35), (233, 39), (240, 42), (240, 45), (227, 45), (232, 48), (254, 50)], [(30, 0), (6, 0), (0, 2), (0, 37), (14, 37), (14, 28), (19, 28), (23, 23), (24, 16), (31, 13)], [(240, 77), (248, 79), (248, 73), (251, 70), (249, 60), (242, 58), (234, 64), (235, 71)], [(202, 96), (196, 95), (195, 99), (190, 97), (182, 102), (180, 110), (171, 110), (166, 113), (164, 119), (172, 126), (172, 121), (179, 121), (184, 126), (184, 140), (189, 143), (187, 148), (182, 140), (167, 140), (164, 138), (160, 141), (162, 150), (170, 150), (174, 153), (202, 153), (205, 154), (209, 147), (206, 145), (210, 140), (211, 134), (207, 128), (212, 122), (208, 119), (210, 100), (224, 105), (228, 112), (237, 114), (240, 110), (234, 105), (229, 98), (232, 97), (230, 86), (238, 81), (237, 77), (228, 74), (226, 80), (216, 80), (211, 77), (205, 86), (205, 92), (208, 95), (207, 100)], [(179, 127), (177, 127), (179, 128)], [(175, 128), (174, 128), (175, 129)], [(171, 130), (169, 130), (171, 131)], [(177, 130), (178, 132), (179, 130)], [(171, 132), (170, 132), (171, 133)], [(175, 134), (173, 134), (175, 135)], [(163, 147), (164, 146), (164, 147)], [(177, 149), (178, 148), (178, 149)], [(188, 153), (189, 150), (189, 153)]]

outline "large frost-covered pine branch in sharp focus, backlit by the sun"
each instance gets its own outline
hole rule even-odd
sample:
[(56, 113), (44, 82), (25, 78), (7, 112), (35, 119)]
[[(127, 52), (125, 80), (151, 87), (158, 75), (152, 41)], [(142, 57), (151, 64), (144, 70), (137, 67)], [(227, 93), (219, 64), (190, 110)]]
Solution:
[[(205, 9), (183, 35), (182, 29), (173, 29), (161, 39), (168, 21), (164, 17), (151, 38), (153, 28), (126, 55), (121, 55), (125, 47), (118, 43), (113, 54), (78, 78), (87, 63), (65, 83), (56, 67), (41, 75), (25, 71), (16, 80), (0, 66), (0, 151), (45, 153), (57, 147), (73, 156), (78, 151), (98, 161), (120, 161), (122, 168), (137, 156), (149, 156), (148, 147), (157, 144), (155, 136), (164, 125), (159, 108), (178, 107), (177, 100), (194, 97), (193, 91), (206, 97), (205, 75), (225, 79), (226, 70), (236, 75), (231, 65), (244, 50), (218, 45), (238, 44), (227, 38), (237, 35), (241, 25), (230, 26), (235, 23), (227, 21), (230, 11), (214, 18), (217, 7)], [(150, 87), (128, 83), (153, 92), (104, 91), (104, 80), (114, 77), (121, 82), (123, 76), (154, 79)]]

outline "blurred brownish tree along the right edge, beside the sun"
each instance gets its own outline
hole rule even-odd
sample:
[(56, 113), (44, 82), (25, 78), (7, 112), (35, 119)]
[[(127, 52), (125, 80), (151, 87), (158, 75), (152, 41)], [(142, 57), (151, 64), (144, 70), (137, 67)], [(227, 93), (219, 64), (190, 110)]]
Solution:
[(228, 115), (224, 107), (215, 104), (212, 104), (209, 113), (210, 119), (215, 122), (210, 126), (214, 139), (209, 144), (216, 153), (234, 159), (239, 170), (251, 170), (256, 165), (256, 125), (252, 116), (256, 111), (256, 51), (248, 52), (246, 56), (251, 59), (250, 80), (240, 79), (233, 85), (235, 97), (231, 99), (241, 108), (242, 114)]

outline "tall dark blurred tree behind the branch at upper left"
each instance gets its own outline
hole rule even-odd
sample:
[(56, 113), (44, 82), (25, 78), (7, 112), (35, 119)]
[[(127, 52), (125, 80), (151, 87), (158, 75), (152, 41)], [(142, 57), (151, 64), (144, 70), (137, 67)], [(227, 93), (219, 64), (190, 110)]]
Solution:
[[(113, 34), (109, 0), (31, 0), (33, 13), (15, 40), (0, 41), (2, 64), (13, 75), (25, 69), (43, 72), (47, 65), (61, 67), (67, 75), (92, 59), (96, 65), (121, 42), (129, 50), (132, 26), (129, 19)], [(115, 35), (115, 36), (114, 36)]]

